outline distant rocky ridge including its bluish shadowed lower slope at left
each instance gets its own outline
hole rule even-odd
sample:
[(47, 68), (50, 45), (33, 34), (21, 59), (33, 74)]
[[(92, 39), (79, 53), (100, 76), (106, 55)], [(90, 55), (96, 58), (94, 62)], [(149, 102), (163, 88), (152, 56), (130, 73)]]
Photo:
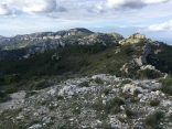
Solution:
[[(100, 42), (118, 43), (123, 36), (118, 33), (95, 33), (84, 28), (76, 28), (63, 30), (57, 32), (37, 32), (24, 35), (15, 35), (12, 37), (0, 36), (0, 61), (9, 58), (19, 58), (28, 54), (36, 52), (45, 52), (47, 50), (55, 50), (60, 45), (71, 44), (94, 44)], [(15, 51), (20, 54), (17, 54)], [(8, 52), (7, 52), (8, 51)]]

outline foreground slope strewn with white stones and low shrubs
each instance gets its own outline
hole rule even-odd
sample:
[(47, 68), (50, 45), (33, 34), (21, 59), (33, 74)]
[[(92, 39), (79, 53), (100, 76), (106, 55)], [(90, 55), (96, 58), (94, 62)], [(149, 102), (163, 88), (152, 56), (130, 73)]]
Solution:
[(172, 98), (155, 79), (99, 74), (46, 82), (53, 85), (0, 104), (0, 129), (172, 128)]

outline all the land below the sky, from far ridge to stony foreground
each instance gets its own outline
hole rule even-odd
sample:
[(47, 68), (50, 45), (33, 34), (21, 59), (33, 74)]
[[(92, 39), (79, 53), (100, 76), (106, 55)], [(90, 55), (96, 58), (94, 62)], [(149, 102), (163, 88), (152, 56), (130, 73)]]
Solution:
[(0, 129), (172, 128), (171, 45), (86, 29), (1, 40)]

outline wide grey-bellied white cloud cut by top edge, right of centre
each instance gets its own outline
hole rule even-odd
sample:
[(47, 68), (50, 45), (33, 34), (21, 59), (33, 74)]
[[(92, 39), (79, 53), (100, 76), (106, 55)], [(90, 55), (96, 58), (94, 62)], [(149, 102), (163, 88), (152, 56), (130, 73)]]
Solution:
[(140, 9), (148, 4), (170, 2), (172, 0), (107, 0), (110, 9)]

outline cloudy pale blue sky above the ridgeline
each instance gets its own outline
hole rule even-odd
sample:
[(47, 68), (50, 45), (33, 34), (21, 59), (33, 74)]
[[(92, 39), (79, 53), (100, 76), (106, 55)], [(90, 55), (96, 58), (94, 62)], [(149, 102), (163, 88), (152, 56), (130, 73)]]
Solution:
[(86, 28), (172, 44), (172, 0), (0, 0), (0, 35)]

